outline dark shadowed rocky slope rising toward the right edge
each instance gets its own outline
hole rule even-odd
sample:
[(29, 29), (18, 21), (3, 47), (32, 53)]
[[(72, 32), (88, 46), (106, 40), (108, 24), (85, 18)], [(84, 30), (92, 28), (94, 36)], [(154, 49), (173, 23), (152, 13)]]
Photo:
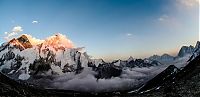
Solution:
[(200, 95), (200, 45), (183, 46), (178, 56), (184, 53), (192, 54), (188, 64), (182, 69), (174, 65), (168, 66), (164, 71), (134, 91), (140, 96), (156, 97), (198, 97)]

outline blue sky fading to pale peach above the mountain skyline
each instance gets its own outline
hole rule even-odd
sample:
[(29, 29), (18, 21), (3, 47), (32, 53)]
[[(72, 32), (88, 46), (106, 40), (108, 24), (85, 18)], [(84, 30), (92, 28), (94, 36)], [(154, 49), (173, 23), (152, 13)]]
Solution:
[(198, 7), (198, 0), (0, 0), (0, 43), (20, 26), (15, 37), (59, 32), (94, 58), (176, 54), (198, 40)]

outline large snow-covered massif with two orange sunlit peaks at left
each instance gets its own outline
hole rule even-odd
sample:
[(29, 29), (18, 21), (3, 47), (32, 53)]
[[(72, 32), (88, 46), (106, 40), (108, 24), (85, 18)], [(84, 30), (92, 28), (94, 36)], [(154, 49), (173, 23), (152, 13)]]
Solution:
[(2, 72), (26, 80), (30, 74), (50, 70), (52, 74), (62, 75), (64, 72), (78, 71), (88, 64), (86, 53), (79, 52), (64, 35), (57, 34), (37, 45), (32, 45), (29, 40), (33, 39), (29, 38), (22, 35), (0, 47)]

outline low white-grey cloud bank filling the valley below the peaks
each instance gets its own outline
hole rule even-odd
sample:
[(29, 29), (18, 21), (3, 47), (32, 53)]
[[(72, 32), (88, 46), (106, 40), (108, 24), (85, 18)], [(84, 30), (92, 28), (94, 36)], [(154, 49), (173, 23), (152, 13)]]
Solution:
[(54, 76), (53, 79), (39, 79), (34, 81), (46, 88), (75, 90), (82, 92), (112, 92), (137, 89), (143, 83), (163, 71), (166, 67), (132, 68), (122, 71), (121, 76), (110, 79), (96, 79), (96, 72), (91, 68), (84, 68), (82, 73), (65, 73)]

